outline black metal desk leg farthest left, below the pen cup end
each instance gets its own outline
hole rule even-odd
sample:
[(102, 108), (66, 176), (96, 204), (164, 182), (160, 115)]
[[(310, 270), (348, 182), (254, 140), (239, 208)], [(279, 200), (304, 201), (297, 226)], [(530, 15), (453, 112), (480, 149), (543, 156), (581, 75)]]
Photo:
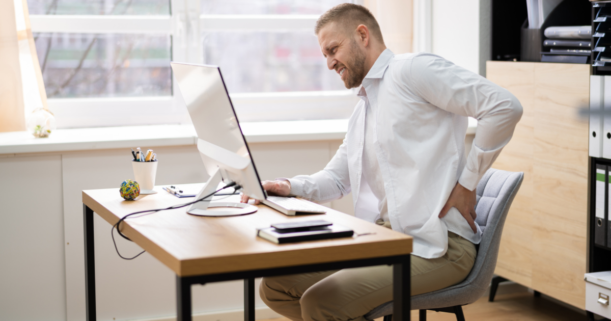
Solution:
[(85, 308), (87, 321), (95, 321), (95, 254), (93, 252), (93, 210), (82, 204), (85, 233)]

